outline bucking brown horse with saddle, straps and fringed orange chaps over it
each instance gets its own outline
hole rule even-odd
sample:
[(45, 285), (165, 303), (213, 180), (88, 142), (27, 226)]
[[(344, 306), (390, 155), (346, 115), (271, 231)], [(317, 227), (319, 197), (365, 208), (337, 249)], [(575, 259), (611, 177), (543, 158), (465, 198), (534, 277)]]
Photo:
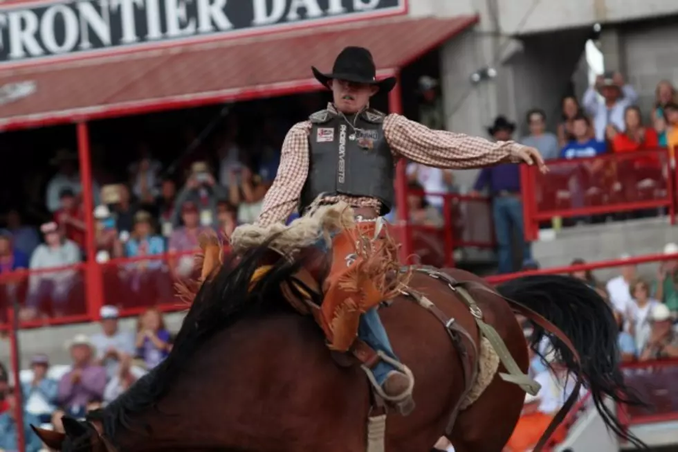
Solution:
[[(425, 452), (444, 435), (458, 452), (500, 452), (526, 392), (539, 389), (526, 375), (528, 347), (539, 353), (544, 336), (576, 388), (534, 450), (582, 384), (607, 427), (643, 446), (605, 404), (641, 401), (619, 370), (610, 307), (579, 280), (524, 276), (494, 288), (460, 269), (401, 266), (387, 226), (360, 224), (342, 204), (289, 226), (239, 228), (226, 256), (215, 237), (201, 247), (201, 277), (181, 289), (192, 305), (167, 359), (106, 408), (64, 417), (65, 434), (35, 428), (49, 447)], [(406, 416), (363, 372), (374, 350), (346, 342), (372, 307), (367, 298), (341, 309), (323, 303), (337, 255), (356, 266), (353, 284), (379, 295), (393, 348), (414, 377)], [(533, 324), (529, 343), (515, 314)], [(339, 338), (347, 350), (328, 347)]]

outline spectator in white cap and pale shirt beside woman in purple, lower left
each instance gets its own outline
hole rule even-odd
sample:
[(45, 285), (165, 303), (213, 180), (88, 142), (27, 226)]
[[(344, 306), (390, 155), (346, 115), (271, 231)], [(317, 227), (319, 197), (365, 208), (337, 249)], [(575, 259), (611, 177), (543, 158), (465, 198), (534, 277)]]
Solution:
[(120, 363), (127, 356), (134, 356), (134, 334), (118, 325), (118, 308), (111, 305), (99, 310), (101, 332), (93, 334), (91, 342), (96, 350), (96, 363), (106, 368), (108, 378), (118, 373)]

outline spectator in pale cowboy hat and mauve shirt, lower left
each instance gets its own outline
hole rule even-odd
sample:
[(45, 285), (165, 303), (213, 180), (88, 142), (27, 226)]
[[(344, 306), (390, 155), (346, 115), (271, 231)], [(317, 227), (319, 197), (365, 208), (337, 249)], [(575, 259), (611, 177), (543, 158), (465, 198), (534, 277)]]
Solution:
[(73, 368), (59, 381), (58, 400), (62, 410), (55, 411), (52, 419), (61, 419), (64, 414), (81, 418), (87, 404), (103, 399), (106, 387), (106, 369), (94, 362), (96, 350), (84, 334), (77, 334), (68, 343), (73, 359)]

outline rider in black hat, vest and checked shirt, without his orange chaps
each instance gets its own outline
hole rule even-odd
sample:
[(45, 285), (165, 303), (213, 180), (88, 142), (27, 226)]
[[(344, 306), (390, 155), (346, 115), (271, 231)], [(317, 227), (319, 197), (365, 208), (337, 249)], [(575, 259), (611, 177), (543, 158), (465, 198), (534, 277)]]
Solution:
[[(369, 99), (391, 91), (396, 79), (377, 80), (366, 48), (345, 48), (331, 73), (311, 69), (318, 82), (332, 91), (333, 102), (288, 132), (259, 226), (285, 222), (297, 204), (304, 212), (320, 195), (324, 204), (345, 201), (354, 207), (356, 222), (374, 222), (393, 207), (394, 168), (400, 158), (438, 168), (480, 168), (511, 161), (546, 170), (538, 150), (531, 147), (434, 131), (404, 116), (370, 108)], [(329, 291), (325, 300), (331, 296)], [(397, 361), (376, 308), (361, 316), (358, 337)], [(383, 359), (370, 371), (391, 399), (412, 390), (410, 377), (392, 362)]]

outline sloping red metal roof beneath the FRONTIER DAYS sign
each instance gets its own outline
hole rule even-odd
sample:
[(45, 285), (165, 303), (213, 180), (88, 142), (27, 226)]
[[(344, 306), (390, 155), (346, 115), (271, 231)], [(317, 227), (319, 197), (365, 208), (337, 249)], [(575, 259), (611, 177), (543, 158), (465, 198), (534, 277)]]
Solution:
[(329, 71), (345, 46), (369, 48), (388, 75), (446, 42), (476, 17), (388, 19), (7, 69), (0, 86), (35, 92), (0, 102), (0, 128), (125, 116), (311, 91), (310, 66)]

